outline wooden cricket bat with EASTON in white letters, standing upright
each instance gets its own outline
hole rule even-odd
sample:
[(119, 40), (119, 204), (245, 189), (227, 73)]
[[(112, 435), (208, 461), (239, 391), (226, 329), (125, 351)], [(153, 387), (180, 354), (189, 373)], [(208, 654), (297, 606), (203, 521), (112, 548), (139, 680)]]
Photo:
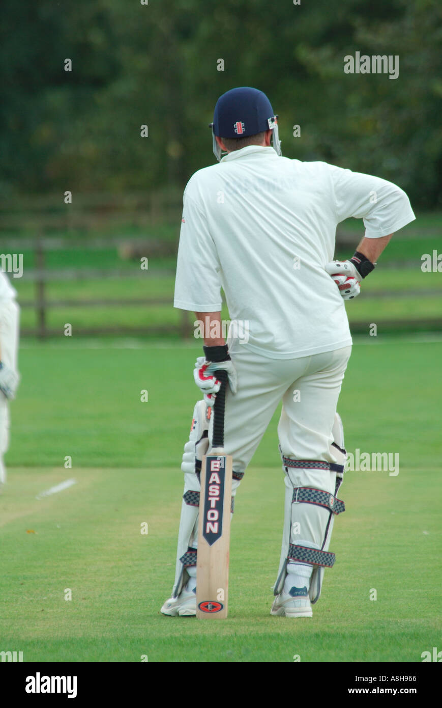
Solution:
[(221, 381), (216, 394), (212, 447), (202, 458), (197, 549), (197, 617), (226, 619), (228, 554), (231, 535), (232, 457), (224, 445), (224, 407), (227, 372), (215, 372)]

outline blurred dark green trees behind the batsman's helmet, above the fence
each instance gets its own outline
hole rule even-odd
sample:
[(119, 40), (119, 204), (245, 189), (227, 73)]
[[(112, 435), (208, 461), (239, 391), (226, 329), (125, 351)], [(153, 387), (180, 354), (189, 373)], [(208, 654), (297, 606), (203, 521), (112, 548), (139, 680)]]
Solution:
[[(436, 207), (441, 16), (434, 0), (4, 0), (0, 196), (183, 185), (214, 160), (216, 98), (249, 85), (279, 113), (286, 156), (375, 173)], [(398, 78), (344, 74), (356, 51), (397, 55)]]

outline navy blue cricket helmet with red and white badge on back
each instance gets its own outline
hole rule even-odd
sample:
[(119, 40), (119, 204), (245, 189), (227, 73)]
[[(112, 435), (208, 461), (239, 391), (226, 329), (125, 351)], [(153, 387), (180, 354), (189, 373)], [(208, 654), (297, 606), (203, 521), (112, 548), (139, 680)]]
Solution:
[(278, 155), (281, 155), (281, 141), (278, 135), (277, 115), (274, 115), (272, 104), (262, 91), (251, 89), (250, 86), (240, 86), (238, 89), (226, 91), (216, 101), (214, 122), (209, 125), (212, 131), (214, 155), (221, 159), (221, 147), (216, 142), (218, 137), (246, 137), (256, 135), (264, 130), (272, 130), (272, 144)]

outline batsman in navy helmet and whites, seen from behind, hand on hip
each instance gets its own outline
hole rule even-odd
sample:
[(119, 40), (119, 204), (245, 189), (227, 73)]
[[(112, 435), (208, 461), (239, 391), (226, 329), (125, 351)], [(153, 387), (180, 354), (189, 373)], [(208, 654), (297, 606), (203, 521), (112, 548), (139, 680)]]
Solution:
[[(337, 403), (351, 353), (344, 300), (359, 295), (392, 234), (415, 217), (391, 182), (281, 156), (277, 115), (262, 91), (223, 93), (211, 130), (219, 164), (194, 173), (183, 200), (174, 305), (204, 324), (204, 357), (194, 367), (204, 397), (182, 457), (175, 583), (161, 612), (195, 615), (199, 470), (220, 386), (214, 371), (222, 369), (233, 498), (282, 401), (285, 512), (271, 614), (311, 617), (324, 569), (335, 563), (335, 516), (344, 511), (337, 497), (347, 459)], [(333, 261), (337, 224), (348, 217), (364, 219), (364, 238), (347, 261)], [(227, 341), (221, 287), (232, 323)]]

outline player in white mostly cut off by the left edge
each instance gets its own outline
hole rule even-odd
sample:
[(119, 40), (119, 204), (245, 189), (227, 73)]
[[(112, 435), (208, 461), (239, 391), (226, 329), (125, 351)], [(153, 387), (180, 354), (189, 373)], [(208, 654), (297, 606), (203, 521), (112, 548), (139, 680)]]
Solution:
[(17, 292), (0, 270), (0, 490), (6, 484), (4, 455), (9, 445), (9, 401), (18, 386), (18, 329), (20, 308)]

